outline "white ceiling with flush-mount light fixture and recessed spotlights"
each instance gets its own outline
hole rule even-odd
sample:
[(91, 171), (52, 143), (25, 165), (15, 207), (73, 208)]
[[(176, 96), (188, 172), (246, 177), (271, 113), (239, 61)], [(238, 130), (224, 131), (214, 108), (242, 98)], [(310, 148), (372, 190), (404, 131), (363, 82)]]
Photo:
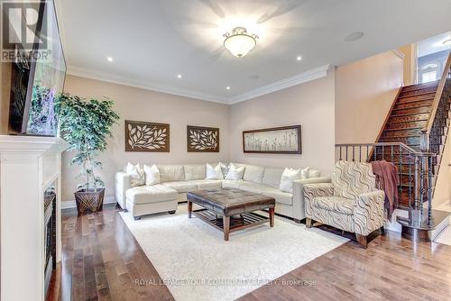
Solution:
[[(451, 29), (449, 0), (56, 1), (69, 73), (224, 103)], [(222, 34), (243, 25), (260, 39), (235, 58)]]

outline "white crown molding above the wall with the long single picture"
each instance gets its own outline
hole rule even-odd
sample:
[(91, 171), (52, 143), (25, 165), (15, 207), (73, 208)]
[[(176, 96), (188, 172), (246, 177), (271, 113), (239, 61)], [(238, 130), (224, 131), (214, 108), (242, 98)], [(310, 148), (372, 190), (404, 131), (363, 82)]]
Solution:
[(243, 102), (245, 100), (249, 100), (252, 98), (255, 98), (257, 96), (264, 96), (266, 94), (270, 94), (272, 92), (276, 92), (282, 89), (285, 89), (287, 87), (293, 87), (297, 86), (299, 84), (307, 83), (308, 81), (315, 80), (318, 78), (325, 78), (327, 76), (327, 71), (331, 68), (330, 64), (314, 68), (311, 70), (308, 70), (306, 72), (300, 73), (298, 75), (295, 75), (291, 78), (285, 78), (280, 81), (274, 82), (272, 84), (258, 87), (256, 89), (253, 89), (252, 91), (243, 93), (239, 96), (234, 96), (230, 98), (229, 104), (233, 105), (236, 103)]

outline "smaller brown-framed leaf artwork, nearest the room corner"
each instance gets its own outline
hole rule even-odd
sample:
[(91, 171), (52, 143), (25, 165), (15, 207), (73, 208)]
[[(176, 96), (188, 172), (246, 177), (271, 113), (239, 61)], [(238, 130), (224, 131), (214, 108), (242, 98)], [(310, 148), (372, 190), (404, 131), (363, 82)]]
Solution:
[(219, 152), (219, 129), (205, 126), (187, 126), (189, 152)]

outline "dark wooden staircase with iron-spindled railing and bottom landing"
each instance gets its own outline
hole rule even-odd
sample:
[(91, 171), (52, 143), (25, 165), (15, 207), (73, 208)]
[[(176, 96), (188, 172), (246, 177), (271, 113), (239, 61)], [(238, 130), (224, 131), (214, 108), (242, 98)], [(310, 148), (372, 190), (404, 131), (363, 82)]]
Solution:
[(400, 87), (375, 143), (337, 144), (340, 160), (387, 160), (399, 172), (397, 208), (402, 233), (429, 241), (449, 214), (432, 210), (432, 198), (451, 121), (451, 53), (440, 80)]

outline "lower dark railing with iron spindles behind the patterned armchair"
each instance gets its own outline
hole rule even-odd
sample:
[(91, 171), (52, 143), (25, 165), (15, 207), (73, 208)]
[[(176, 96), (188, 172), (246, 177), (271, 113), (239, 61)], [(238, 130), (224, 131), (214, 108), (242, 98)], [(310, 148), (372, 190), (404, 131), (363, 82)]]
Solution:
[[(410, 216), (419, 215), (419, 221), (431, 222), (433, 192), (433, 160), (436, 154), (418, 151), (404, 143), (345, 143), (336, 144), (336, 159), (358, 162), (386, 160), (398, 169), (399, 186), (396, 208), (408, 210)], [(407, 200), (407, 202), (406, 202)], [(425, 215), (424, 204), (427, 204)], [(417, 220), (417, 218), (415, 218)], [(410, 221), (412, 219), (410, 218)]]

